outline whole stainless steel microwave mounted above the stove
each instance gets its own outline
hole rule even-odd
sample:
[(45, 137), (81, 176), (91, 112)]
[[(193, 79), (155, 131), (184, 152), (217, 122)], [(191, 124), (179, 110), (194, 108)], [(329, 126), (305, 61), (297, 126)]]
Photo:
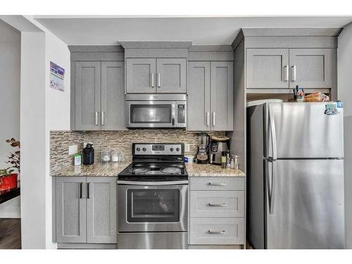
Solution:
[(186, 127), (186, 94), (127, 94), (127, 127)]

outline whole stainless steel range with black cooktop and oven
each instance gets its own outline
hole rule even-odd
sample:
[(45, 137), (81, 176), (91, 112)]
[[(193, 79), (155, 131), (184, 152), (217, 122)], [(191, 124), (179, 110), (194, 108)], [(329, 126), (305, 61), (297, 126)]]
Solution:
[(186, 249), (188, 174), (184, 144), (133, 144), (118, 175), (118, 248)]

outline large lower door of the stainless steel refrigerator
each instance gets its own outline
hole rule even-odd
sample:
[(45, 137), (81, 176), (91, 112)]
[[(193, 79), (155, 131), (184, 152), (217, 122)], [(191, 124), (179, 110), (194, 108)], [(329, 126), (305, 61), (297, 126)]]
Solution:
[(344, 249), (344, 161), (279, 160), (267, 165), (266, 247)]

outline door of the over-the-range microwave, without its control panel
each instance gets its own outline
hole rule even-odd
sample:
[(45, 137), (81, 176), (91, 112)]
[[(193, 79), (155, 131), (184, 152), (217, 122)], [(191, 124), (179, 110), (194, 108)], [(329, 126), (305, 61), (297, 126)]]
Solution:
[(175, 127), (175, 101), (127, 101), (127, 127)]

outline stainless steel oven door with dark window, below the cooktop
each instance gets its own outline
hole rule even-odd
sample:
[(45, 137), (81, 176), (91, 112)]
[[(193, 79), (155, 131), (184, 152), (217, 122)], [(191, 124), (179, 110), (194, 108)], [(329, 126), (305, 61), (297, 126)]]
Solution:
[(126, 183), (118, 184), (119, 232), (187, 231), (188, 184)]

